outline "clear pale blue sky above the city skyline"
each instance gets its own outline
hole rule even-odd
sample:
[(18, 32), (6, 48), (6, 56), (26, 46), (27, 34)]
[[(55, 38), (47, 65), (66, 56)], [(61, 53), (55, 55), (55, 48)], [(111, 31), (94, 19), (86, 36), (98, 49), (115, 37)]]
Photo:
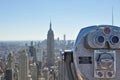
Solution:
[(91, 25), (120, 26), (120, 0), (0, 0), (0, 41), (45, 40), (50, 21), (54, 37), (75, 40)]

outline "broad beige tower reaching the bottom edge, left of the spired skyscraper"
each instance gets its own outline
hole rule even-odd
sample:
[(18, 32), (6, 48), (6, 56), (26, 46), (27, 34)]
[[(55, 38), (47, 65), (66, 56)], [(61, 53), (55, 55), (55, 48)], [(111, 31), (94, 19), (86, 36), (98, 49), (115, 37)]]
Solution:
[(29, 59), (25, 50), (21, 51), (19, 56), (19, 80), (28, 80)]

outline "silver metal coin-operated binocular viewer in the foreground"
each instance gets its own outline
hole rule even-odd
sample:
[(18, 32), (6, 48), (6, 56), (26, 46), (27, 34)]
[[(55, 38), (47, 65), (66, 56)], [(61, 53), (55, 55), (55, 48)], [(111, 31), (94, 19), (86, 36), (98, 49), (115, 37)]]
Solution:
[(120, 27), (83, 28), (64, 61), (69, 80), (120, 80)]

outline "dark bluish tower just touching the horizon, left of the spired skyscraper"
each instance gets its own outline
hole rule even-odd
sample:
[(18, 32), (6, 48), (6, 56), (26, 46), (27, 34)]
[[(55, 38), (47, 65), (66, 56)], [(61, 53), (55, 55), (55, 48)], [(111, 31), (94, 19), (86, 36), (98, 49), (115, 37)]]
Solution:
[(29, 47), (29, 55), (30, 57), (33, 59), (32, 62), (36, 63), (37, 62), (37, 58), (36, 58), (36, 48), (33, 45), (33, 41), (31, 41), (31, 46)]

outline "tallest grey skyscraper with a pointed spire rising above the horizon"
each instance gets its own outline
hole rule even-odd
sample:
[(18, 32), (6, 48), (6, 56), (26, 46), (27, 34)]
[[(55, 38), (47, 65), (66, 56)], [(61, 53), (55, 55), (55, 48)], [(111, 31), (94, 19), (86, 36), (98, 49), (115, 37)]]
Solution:
[(52, 24), (50, 22), (50, 29), (47, 34), (47, 66), (53, 66), (55, 61), (54, 54), (54, 33), (52, 30)]

